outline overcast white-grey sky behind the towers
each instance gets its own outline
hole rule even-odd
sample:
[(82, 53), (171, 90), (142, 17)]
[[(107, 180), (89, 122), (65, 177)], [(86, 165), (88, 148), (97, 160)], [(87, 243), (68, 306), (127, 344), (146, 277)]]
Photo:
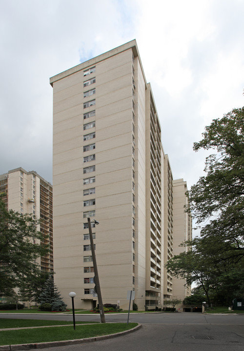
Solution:
[(49, 78), (137, 40), (173, 176), (203, 175), (204, 126), (244, 105), (244, 0), (0, 0), (0, 174), (52, 182)]

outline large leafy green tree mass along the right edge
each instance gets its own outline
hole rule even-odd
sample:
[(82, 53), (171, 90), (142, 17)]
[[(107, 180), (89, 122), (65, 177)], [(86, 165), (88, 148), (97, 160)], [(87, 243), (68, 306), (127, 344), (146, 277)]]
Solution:
[(244, 108), (234, 109), (205, 127), (194, 150), (215, 150), (206, 158), (205, 176), (187, 193), (189, 211), (200, 237), (183, 243), (188, 252), (174, 256), (166, 268), (195, 282), (208, 304), (222, 303), (244, 289)]

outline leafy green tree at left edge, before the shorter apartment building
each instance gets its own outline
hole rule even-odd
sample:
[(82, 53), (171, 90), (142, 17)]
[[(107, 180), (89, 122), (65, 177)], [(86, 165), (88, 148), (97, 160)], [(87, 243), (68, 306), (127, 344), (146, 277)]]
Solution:
[(7, 210), (0, 196), (0, 292), (11, 295), (21, 286), (24, 276), (29, 279), (40, 273), (37, 258), (47, 253), (44, 245), (34, 244), (42, 240), (37, 230), (39, 220), (32, 215), (22, 215)]

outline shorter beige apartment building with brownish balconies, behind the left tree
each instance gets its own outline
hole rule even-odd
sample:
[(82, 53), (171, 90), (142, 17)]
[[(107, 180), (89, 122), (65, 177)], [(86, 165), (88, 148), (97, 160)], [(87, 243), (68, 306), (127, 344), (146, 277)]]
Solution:
[(41, 270), (53, 271), (53, 188), (37, 172), (16, 168), (0, 175), (0, 193), (8, 210), (35, 215), (41, 219), (38, 230), (50, 252), (40, 257)]

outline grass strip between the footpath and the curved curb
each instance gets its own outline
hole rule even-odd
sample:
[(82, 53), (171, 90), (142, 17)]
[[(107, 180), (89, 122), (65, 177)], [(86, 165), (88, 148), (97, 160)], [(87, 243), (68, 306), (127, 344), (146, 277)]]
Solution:
[(38, 342), (73, 340), (113, 334), (136, 327), (138, 323), (104, 323), (94, 325), (0, 331), (0, 345), (29, 344)]

